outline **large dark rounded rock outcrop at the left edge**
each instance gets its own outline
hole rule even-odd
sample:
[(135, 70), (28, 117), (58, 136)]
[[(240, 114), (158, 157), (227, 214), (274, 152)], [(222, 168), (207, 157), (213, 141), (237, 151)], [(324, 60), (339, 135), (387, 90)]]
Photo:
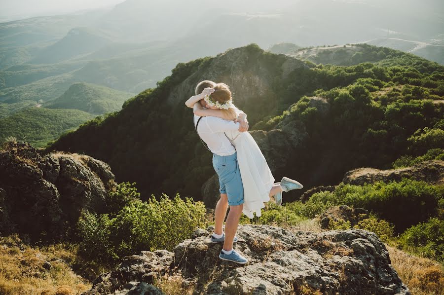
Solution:
[(114, 186), (107, 163), (80, 154), (40, 155), (28, 143), (10, 142), (0, 150), (0, 232), (58, 237), (83, 208), (106, 212)]

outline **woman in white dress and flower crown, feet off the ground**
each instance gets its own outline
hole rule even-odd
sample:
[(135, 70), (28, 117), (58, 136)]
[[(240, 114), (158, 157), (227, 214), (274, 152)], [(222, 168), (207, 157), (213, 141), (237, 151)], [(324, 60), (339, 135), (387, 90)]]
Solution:
[[(206, 88), (206, 108), (200, 103), (201, 96), (191, 97), (185, 104), (193, 106), (194, 114), (198, 116), (215, 116), (226, 120), (235, 120), (241, 111), (234, 106), (231, 91), (228, 85), (217, 83), (214, 88)], [(264, 208), (264, 202), (275, 199), (278, 206), (282, 204), (282, 192), (302, 188), (303, 185), (295, 180), (284, 177), (281, 183), (274, 183), (274, 177), (260, 151), (256, 141), (248, 132), (226, 132), (225, 135), (235, 147), (237, 161), (244, 186), (245, 203), (243, 213), (250, 219), (261, 216), (260, 209)]]

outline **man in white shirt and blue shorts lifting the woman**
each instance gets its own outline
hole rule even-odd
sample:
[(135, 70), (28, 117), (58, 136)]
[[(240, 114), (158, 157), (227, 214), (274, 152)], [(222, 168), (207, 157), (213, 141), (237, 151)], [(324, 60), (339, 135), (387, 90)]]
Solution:
[[(185, 105), (192, 108), (190, 101), (205, 105), (203, 100), (205, 95), (211, 94), (214, 89), (215, 82), (202, 81), (196, 89), (196, 95), (191, 97)], [(235, 237), (239, 218), (242, 215), (244, 203), (244, 188), (240, 175), (239, 165), (237, 164), (236, 149), (231, 145), (224, 132), (236, 131), (245, 132), (248, 130), (248, 121), (246, 114), (241, 114), (235, 121), (227, 121), (218, 117), (207, 116), (198, 117), (194, 115), (194, 126), (200, 138), (207, 144), (213, 153), (213, 167), (218, 174), (221, 197), (216, 205), (215, 210), (215, 230), (211, 237), (213, 243), (223, 241), (223, 248), (219, 254), (222, 260), (233, 261), (239, 264), (248, 262), (247, 258), (240, 255), (233, 249), (233, 242), (237, 241)], [(225, 222), (225, 233), (223, 233), (222, 225), (226, 215), (226, 210), (230, 207)]]

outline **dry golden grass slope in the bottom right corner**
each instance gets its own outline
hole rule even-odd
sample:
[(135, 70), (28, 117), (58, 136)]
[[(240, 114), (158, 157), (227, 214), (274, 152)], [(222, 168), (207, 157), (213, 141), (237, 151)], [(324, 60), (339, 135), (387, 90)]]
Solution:
[(415, 295), (444, 294), (444, 266), (385, 244), (392, 266)]

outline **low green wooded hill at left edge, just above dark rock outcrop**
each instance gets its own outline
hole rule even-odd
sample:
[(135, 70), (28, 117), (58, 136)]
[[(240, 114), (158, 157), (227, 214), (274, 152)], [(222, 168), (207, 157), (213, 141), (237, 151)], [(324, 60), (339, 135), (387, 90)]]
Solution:
[(8, 136), (26, 140), (42, 147), (63, 132), (74, 129), (94, 116), (78, 110), (49, 110), (31, 108), (0, 118), (0, 142)]

